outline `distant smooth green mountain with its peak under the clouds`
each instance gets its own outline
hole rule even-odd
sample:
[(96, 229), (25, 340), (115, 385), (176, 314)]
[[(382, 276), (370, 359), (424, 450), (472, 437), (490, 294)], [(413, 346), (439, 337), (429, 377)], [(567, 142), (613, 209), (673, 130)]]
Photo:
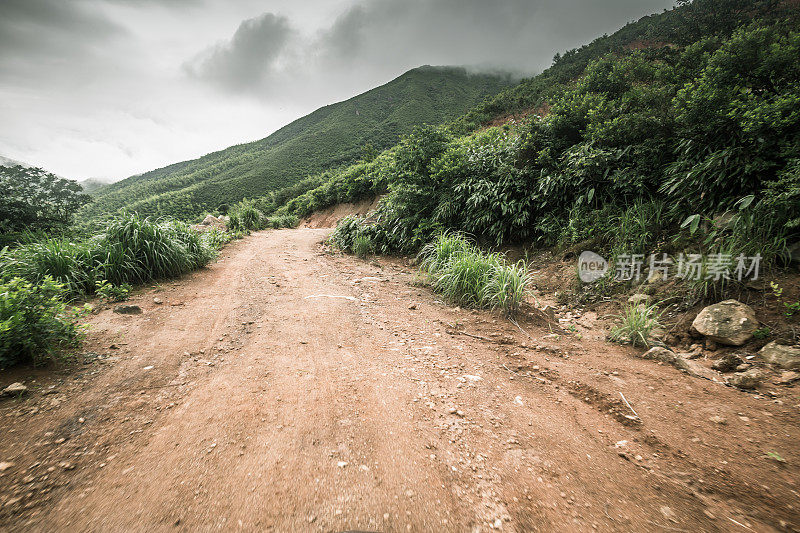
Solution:
[(512, 84), (463, 68), (415, 68), (363, 94), (327, 105), (259, 141), (132, 176), (102, 188), (81, 218), (121, 209), (189, 219), (352, 163), (422, 124), (440, 124)]

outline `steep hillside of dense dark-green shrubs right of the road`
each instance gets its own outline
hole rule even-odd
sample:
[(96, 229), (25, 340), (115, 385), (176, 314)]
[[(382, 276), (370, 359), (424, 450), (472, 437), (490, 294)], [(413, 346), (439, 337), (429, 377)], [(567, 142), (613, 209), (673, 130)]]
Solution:
[[(494, 245), (780, 262), (800, 239), (797, 22), (797, 8), (738, 0), (647, 17), (557, 56), (490, 106), (513, 112), (509, 95), (538, 87), (537, 113), (463, 136), (463, 120), (420, 129), (277, 212), (386, 193), (375, 216), (340, 231), (383, 252), (459, 229)], [(671, 40), (620, 44), (656, 36)]]

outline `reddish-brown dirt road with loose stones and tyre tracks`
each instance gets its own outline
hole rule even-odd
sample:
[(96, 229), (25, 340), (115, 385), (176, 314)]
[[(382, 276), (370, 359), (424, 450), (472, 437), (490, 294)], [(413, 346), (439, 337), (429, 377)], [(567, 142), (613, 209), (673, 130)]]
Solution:
[(328, 231), (236, 242), (92, 316), (77, 370), (9, 377), (0, 530), (800, 528), (796, 388), (450, 307)]

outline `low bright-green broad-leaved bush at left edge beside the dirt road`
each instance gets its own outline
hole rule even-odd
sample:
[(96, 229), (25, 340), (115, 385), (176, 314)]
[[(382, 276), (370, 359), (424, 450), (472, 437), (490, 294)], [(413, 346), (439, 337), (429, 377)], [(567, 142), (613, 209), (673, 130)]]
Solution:
[(58, 359), (80, 329), (67, 311), (66, 287), (50, 277), (35, 285), (19, 277), (0, 283), (0, 368)]

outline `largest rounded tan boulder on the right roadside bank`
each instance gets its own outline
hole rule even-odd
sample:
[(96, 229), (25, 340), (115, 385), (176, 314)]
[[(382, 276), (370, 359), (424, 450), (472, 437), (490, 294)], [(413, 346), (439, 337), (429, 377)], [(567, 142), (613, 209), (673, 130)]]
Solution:
[(737, 300), (709, 305), (692, 322), (692, 330), (719, 344), (741, 346), (758, 329), (755, 312)]

